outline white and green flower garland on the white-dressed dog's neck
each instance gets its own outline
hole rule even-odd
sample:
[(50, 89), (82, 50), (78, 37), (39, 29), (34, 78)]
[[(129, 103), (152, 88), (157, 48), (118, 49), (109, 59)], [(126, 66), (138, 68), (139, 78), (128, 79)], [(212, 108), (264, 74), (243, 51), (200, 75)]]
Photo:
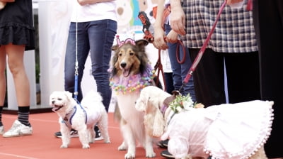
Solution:
[(176, 96), (176, 98), (169, 104), (169, 107), (174, 111), (174, 113), (179, 113), (182, 110), (190, 110), (192, 108), (203, 108), (204, 105), (196, 104), (192, 101), (190, 94), (183, 96), (182, 94)]

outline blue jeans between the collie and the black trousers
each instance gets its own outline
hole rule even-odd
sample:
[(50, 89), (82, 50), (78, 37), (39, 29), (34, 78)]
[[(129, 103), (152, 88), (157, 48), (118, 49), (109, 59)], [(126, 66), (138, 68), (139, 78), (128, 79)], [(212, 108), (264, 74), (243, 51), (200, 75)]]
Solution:
[[(165, 32), (166, 35), (171, 31), (171, 26), (168, 24), (164, 25), (165, 28)], [(183, 81), (187, 75), (187, 72), (189, 72), (190, 67), (192, 65), (192, 62), (190, 60), (190, 53), (189, 50), (187, 48), (185, 48), (185, 62), (183, 62), (183, 64), (180, 64), (177, 60), (176, 57), (176, 48), (178, 43), (167, 43), (168, 45), (168, 53), (169, 53), (169, 58), (170, 58), (170, 62), (171, 62), (171, 68), (173, 71), (173, 83), (174, 83), (174, 89), (175, 90), (179, 90), (180, 87), (182, 87)], [(179, 49), (179, 60), (183, 59), (183, 49), (182, 47), (180, 47)], [(190, 96), (192, 97), (192, 100), (195, 102), (195, 89), (194, 89), (194, 82), (192, 77), (190, 77), (189, 82), (187, 82), (187, 84), (185, 84), (185, 86), (183, 87), (183, 89), (180, 92), (183, 95), (187, 95), (190, 94)]]

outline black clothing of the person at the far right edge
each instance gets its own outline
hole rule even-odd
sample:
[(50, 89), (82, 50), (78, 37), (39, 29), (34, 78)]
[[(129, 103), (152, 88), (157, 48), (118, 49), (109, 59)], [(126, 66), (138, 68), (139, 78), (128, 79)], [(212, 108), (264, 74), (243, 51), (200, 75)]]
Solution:
[(265, 143), (267, 158), (283, 158), (283, 1), (255, 0), (253, 8), (255, 33), (259, 46), (260, 89), (262, 100), (274, 102), (274, 120)]

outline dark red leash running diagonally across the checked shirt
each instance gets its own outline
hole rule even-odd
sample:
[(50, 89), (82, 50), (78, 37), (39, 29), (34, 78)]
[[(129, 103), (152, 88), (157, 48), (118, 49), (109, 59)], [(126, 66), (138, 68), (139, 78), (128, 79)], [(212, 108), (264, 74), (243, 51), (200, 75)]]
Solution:
[(205, 39), (204, 44), (202, 45), (202, 48), (200, 49), (199, 53), (197, 53), (197, 57), (195, 58), (194, 62), (192, 63), (192, 66), (190, 67), (189, 72), (187, 72), (187, 75), (183, 81), (183, 85), (180, 88), (183, 89), (183, 87), (185, 86), (185, 84), (187, 84), (187, 82), (189, 82), (190, 77), (192, 76), (192, 73), (195, 71), (195, 68), (197, 67), (197, 64), (200, 62), (200, 59), (202, 58), (202, 55), (204, 54), (204, 50), (207, 48), (207, 45), (209, 43), (210, 38), (212, 37), (212, 33), (215, 30), (216, 24), (219, 21), (220, 15), (224, 9), (224, 6), (226, 5), (227, 1), (224, 1), (224, 3), (222, 4), (221, 8), (219, 9), (219, 12), (216, 16), (216, 20), (214, 21), (214, 24), (212, 26), (212, 30), (209, 32), (207, 39)]

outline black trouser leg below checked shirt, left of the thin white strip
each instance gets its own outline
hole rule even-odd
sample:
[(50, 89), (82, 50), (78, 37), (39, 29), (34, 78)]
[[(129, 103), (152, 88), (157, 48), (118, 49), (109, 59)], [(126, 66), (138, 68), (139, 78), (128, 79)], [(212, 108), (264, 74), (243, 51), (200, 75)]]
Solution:
[[(200, 49), (190, 48), (192, 61)], [(224, 57), (207, 48), (193, 73), (195, 96), (205, 107), (226, 103), (224, 90)]]

